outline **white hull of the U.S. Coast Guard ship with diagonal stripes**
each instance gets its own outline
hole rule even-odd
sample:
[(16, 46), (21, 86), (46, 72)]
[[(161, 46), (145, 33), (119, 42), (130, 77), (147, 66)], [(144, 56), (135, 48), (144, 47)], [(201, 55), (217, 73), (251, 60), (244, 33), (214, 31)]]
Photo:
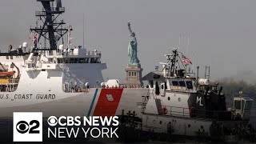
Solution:
[[(122, 91), (122, 93), (117, 95), (115, 94), (116, 91)], [(129, 110), (136, 111), (136, 114), (140, 116), (141, 108), (137, 106), (137, 103), (142, 102), (142, 95), (146, 95), (147, 91), (146, 88), (93, 88), (90, 89), (88, 93), (54, 94), (54, 99), (41, 99), (40, 97), (35, 96), (31, 99), (14, 99), (14, 101), (11, 101), (11, 98), (14, 98), (14, 95), (17, 95), (14, 93), (9, 94), (8, 99), (1, 99), (1, 102), (9, 101), (6, 103), (9, 104), (9, 106), (1, 105), (0, 118), (12, 117), (13, 112), (19, 111), (42, 112), (44, 118), (48, 118), (51, 115), (110, 116), (122, 114), (122, 110), (125, 110), (125, 112)], [(49, 94), (53, 95), (53, 93), (48, 93), (48, 95)], [(109, 101), (106, 94), (111, 94), (114, 100)], [(34, 95), (35, 94), (33, 94), (33, 96)], [(118, 100), (118, 98), (120, 98), (120, 100)], [(10, 102), (13, 102), (13, 104)], [(18, 106), (17, 103), (20, 103), (20, 105)]]

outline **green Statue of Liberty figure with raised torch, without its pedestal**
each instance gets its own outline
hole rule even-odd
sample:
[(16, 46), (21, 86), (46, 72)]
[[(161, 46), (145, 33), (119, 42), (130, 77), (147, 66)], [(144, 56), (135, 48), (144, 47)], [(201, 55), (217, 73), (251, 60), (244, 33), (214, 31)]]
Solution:
[(130, 29), (130, 22), (128, 22), (128, 29), (130, 31), (130, 42), (128, 45), (128, 58), (129, 66), (139, 66), (139, 60), (137, 57), (137, 39), (135, 33)]

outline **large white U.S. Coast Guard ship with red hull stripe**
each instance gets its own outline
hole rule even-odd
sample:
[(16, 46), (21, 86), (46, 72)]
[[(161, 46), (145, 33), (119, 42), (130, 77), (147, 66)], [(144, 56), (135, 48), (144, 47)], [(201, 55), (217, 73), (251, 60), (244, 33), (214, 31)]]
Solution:
[(138, 111), (136, 102), (147, 89), (124, 88), (118, 80), (101, 85), (106, 69), (101, 52), (71, 46), (72, 27), (57, 20), (65, 12), (60, 0), (38, 2), (43, 9), (35, 14), (41, 25), (37, 22), (30, 28), (34, 34), (30, 52), (24, 42), (18, 49), (10, 45), (7, 53), (0, 53), (0, 117), (12, 117), (14, 111), (42, 111), (44, 117)]

